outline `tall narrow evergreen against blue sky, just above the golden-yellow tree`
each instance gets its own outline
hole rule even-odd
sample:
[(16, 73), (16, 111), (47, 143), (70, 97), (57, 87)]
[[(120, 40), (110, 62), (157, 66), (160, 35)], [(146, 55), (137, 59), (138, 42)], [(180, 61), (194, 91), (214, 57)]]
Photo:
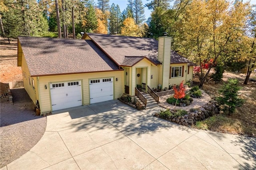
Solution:
[(142, 3), (142, 0), (134, 0), (133, 2), (133, 11), (134, 11), (134, 17), (135, 17), (135, 24), (141, 25), (142, 22), (145, 20), (144, 15), (144, 6)]

